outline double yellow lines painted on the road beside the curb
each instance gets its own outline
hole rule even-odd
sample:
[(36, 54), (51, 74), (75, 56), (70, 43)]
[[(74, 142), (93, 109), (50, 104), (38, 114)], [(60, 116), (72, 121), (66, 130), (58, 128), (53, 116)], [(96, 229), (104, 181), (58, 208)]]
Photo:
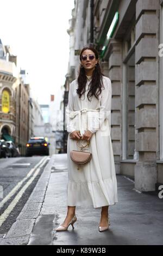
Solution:
[(18, 184), (12, 189), (12, 191), (8, 194), (8, 196), (5, 197), (2, 200), (2, 202), (0, 203), (0, 208), (16, 193), (16, 191), (18, 190), (18, 188), (21, 187), (23, 182), (26, 181), (35, 172), (34, 175), (28, 180), (28, 182), (26, 182), (26, 184), (22, 187), (20, 192), (17, 193), (16, 197), (12, 200), (12, 202), (10, 203), (8, 208), (0, 216), (0, 227), (5, 222), (7, 217), (10, 215), (11, 211), (15, 208), (16, 204), (18, 203), (18, 201), (23, 196), (23, 193), (27, 190), (29, 185), (32, 184), (33, 180), (39, 174), (40, 169), (45, 164), (45, 162), (47, 161), (47, 158), (48, 157), (44, 157), (43, 159), (41, 159), (41, 161), (39, 163), (37, 163), (36, 166), (33, 169), (30, 170), (30, 172), (27, 174), (27, 176), (22, 181), (18, 182)]

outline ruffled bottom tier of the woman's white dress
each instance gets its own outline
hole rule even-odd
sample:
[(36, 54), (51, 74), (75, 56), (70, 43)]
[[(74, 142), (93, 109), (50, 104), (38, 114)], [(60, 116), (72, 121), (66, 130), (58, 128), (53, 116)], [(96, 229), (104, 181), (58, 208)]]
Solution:
[(102, 206), (115, 205), (117, 198), (117, 181), (112, 177), (95, 182), (77, 182), (69, 180), (67, 184), (67, 205), (68, 206)]

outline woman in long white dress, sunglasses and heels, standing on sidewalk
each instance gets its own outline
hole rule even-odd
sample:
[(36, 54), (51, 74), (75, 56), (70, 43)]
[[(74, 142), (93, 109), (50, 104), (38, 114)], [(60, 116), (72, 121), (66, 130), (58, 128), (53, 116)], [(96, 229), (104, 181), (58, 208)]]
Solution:
[[(77, 221), (77, 205), (101, 208), (98, 230), (109, 229), (109, 205), (118, 202), (111, 130), (111, 81), (101, 73), (98, 52), (85, 47), (80, 52), (80, 71), (70, 84), (66, 107), (67, 123), (67, 216), (55, 230), (67, 230)], [(89, 142), (89, 163), (78, 165), (70, 158), (71, 150), (80, 150), (77, 142)], [(74, 227), (73, 227), (74, 228)]]

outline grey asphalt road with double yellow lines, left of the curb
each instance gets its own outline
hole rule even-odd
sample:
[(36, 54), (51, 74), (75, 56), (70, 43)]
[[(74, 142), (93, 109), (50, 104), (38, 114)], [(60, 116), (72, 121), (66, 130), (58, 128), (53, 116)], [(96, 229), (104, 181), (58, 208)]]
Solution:
[(48, 160), (47, 156), (0, 159), (0, 235), (15, 222)]

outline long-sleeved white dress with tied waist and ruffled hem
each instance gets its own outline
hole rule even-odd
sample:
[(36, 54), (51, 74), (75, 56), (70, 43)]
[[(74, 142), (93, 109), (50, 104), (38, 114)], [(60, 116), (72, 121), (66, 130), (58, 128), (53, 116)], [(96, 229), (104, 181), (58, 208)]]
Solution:
[[(67, 205), (92, 205), (101, 208), (105, 205), (114, 205), (118, 202), (117, 180), (115, 172), (114, 155), (110, 137), (111, 130), (111, 81), (103, 76), (102, 93), (91, 101), (87, 99), (89, 83), (86, 83), (85, 97), (79, 98), (76, 90), (77, 80), (70, 84), (68, 104), (66, 107), (67, 139)], [(90, 130), (93, 135), (90, 144), (83, 151), (91, 152), (92, 159), (89, 163), (78, 165), (70, 158), (71, 150), (80, 150), (77, 141), (70, 138), (70, 133), (79, 130)], [(86, 141), (79, 141), (85, 144)]]

